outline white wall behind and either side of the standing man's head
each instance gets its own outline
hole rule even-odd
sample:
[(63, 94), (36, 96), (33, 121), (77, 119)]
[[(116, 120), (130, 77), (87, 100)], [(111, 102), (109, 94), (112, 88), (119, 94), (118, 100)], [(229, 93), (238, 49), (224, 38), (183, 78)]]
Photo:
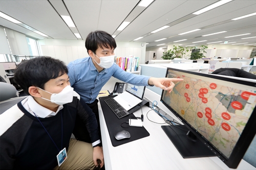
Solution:
[[(66, 64), (69, 62), (89, 57), (85, 40), (68, 40), (68, 39), (40, 39), (38, 40), (41, 54), (62, 60)], [(140, 58), (140, 63), (145, 63), (146, 47), (141, 46), (141, 42), (116, 42), (115, 55), (124, 57), (134, 55)]]

